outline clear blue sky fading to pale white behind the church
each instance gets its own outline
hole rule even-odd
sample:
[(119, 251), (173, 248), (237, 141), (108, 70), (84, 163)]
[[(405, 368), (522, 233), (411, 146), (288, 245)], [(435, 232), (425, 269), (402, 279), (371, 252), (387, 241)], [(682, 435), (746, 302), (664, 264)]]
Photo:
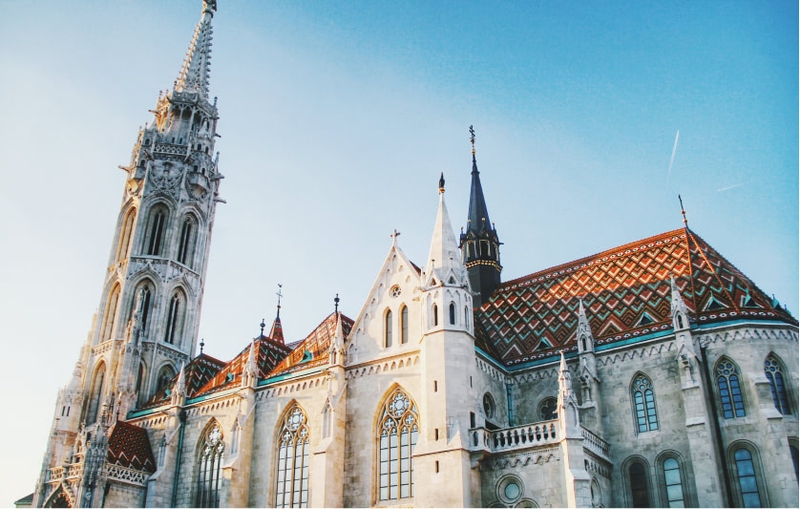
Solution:
[[(355, 318), (393, 229), (423, 264), (470, 146), (504, 279), (689, 226), (798, 312), (798, 12), (774, 2), (219, 1), (226, 179), (200, 334), (229, 359)], [(32, 491), (91, 327), (138, 126), (199, 0), (3, 2), (0, 505)], [(669, 171), (676, 132), (680, 138)], [(14, 418), (9, 418), (14, 416)]]

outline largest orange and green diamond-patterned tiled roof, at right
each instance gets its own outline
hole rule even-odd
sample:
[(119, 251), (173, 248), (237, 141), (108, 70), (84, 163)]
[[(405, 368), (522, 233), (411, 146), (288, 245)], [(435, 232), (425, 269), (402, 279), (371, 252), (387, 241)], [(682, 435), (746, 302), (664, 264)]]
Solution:
[(697, 323), (755, 318), (797, 324), (688, 228), (503, 283), (478, 320), (507, 366), (575, 349), (579, 298), (598, 344), (635, 338), (672, 327), (670, 275)]

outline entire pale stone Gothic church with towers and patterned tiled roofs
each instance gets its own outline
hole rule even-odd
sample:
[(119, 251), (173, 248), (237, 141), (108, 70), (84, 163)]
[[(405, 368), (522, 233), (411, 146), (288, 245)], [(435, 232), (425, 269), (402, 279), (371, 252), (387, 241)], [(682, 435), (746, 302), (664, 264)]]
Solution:
[(685, 219), (503, 280), (474, 132), (460, 235), (434, 175), (428, 257), (392, 236), (357, 315), (204, 353), (215, 13), (124, 168), (33, 506), (798, 506), (798, 321)]

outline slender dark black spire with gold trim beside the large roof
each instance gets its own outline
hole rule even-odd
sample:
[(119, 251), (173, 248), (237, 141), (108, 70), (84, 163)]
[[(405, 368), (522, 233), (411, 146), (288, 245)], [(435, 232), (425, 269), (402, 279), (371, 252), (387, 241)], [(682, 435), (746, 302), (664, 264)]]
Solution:
[(472, 144), (472, 186), (469, 193), (467, 229), (461, 233), (460, 247), (464, 265), (475, 297), (475, 305), (486, 302), (500, 285), (500, 240), (489, 219), (486, 199), (483, 197), (478, 162), (475, 159), (475, 130), (469, 126)]

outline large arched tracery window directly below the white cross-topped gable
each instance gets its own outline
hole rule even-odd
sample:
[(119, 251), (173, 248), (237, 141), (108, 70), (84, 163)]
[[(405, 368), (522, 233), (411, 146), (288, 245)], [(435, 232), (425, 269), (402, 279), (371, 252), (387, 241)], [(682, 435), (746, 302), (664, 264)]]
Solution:
[(378, 421), (378, 498), (399, 500), (414, 496), (414, 460), (411, 454), (419, 433), (417, 406), (395, 389)]

